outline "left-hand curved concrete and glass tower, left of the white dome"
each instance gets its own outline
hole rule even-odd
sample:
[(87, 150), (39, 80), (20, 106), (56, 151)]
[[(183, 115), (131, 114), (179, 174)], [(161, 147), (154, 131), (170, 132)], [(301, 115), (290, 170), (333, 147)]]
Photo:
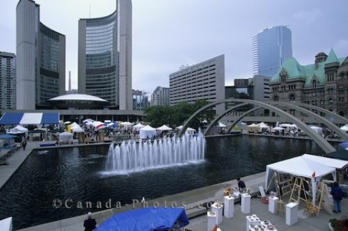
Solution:
[(40, 22), (40, 5), (17, 4), (17, 109), (46, 108), (65, 94), (65, 35)]

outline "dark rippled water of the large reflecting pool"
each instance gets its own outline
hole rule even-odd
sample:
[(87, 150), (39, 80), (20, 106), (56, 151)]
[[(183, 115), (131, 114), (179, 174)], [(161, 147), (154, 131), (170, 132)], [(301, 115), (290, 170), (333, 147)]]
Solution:
[(0, 189), (0, 219), (13, 216), (16, 230), (107, 209), (109, 202), (116, 207), (260, 173), (267, 164), (303, 153), (324, 154), (302, 139), (215, 137), (206, 139), (205, 160), (196, 164), (118, 175), (103, 173), (109, 144), (47, 151), (33, 151)]

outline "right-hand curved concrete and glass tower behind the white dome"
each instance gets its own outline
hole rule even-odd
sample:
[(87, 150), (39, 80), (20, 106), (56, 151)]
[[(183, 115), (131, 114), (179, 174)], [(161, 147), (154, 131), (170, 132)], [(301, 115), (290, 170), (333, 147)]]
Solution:
[(118, 0), (111, 15), (79, 19), (78, 89), (132, 110), (132, 1)]

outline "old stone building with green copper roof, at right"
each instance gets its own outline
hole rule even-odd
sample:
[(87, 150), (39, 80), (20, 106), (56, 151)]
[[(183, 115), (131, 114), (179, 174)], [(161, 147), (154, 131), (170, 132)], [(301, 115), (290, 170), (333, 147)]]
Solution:
[(333, 49), (329, 55), (315, 55), (311, 65), (288, 59), (271, 78), (269, 87), (273, 101), (306, 103), (348, 117), (348, 57), (337, 58)]

